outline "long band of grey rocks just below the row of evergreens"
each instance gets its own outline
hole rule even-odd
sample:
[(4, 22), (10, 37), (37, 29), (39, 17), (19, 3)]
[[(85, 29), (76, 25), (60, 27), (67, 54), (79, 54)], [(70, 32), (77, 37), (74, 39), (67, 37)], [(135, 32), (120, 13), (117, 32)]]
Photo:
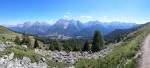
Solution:
[(45, 58), (55, 60), (57, 62), (65, 62), (74, 64), (79, 59), (98, 59), (104, 57), (112, 51), (112, 46), (106, 46), (99, 52), (65, 52), (65, 51), (50, 51), (35, 49), (36, 53), (43, 55)]

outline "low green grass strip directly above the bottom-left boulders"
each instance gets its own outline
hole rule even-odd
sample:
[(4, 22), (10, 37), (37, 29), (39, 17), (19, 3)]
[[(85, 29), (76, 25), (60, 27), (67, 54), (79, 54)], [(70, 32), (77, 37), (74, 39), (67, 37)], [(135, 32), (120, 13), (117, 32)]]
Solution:
[(34, 51), (30, 49), (23, 49), (20, 47), (10, 47), (7, 48), (5, 51), (0, 52), (0, 56), (10, 54), (11, 52), (14, 52), (16, 58), (23, 58), (28, 57), (31, 59), (31, 62), (36, 62), (41, 59), (41, 55), (35, 53)]

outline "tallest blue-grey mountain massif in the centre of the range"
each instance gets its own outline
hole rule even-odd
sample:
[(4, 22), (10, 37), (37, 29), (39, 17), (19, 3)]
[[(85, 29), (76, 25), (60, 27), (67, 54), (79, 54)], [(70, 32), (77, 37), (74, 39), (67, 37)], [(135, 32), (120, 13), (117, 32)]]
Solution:
[(52, 25), (49, 32), (64, 35), (72, 35), (84, 28), (84, 24), (80, 21), (60, 19)]

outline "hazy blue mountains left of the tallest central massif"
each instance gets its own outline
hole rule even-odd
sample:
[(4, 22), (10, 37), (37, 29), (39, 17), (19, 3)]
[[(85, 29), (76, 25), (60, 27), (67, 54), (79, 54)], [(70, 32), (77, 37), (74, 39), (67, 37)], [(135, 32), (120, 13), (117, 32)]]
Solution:
[(16, 26), (9, 27), (10, 29), (17, 31), (17, 32), (23, 32), (23, 33), (29, 33), (34, 35), (46, 35), (47, 31), (50, 29), (51, 25), (45, 23), (45, 22), (25, 22), (23, 24), (18, 24)]

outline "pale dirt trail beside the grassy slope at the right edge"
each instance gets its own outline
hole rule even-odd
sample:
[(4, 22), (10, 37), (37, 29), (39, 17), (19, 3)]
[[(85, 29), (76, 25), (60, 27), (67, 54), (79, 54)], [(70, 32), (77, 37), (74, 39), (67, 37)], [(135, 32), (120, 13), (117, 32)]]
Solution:
[(142, 47), (139, 68), (150, 68), (150, 34), (145, 38)]

